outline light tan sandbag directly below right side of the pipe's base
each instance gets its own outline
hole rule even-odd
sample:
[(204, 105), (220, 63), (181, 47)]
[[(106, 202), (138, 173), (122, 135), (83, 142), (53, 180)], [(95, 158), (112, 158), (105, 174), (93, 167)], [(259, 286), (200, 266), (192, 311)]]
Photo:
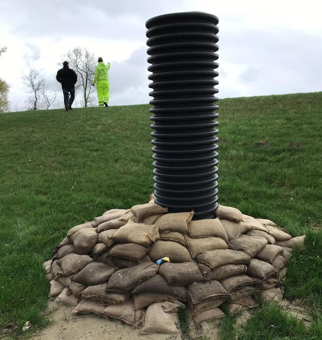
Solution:
[(227, 235), (224, 227), (222, 226), (219, 218), (205, 219), (189, 222), (189, 237), (190, 238), (204, 238), (204, 237), (217, 237), (224, 240)]

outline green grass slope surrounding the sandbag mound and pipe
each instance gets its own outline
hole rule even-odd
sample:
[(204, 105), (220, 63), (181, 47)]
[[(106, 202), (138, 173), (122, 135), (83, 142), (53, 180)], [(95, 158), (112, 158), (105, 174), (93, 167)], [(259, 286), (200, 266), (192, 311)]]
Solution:
[[(0, 115), (0, 330), (16, 323), (19, 335), (26, 321), (34, 331), (46, 323), (48, 282), (42, 262), (72, 226), (92, 221), (107, 208), (148, 201), (153, 192), (149, 108)], [(305, 302), (318, 335), (321, 108), (322, 93), (225, 99), (219, 101), (218, 119), (219, 203), (275, 221), (293, 236), (307, 235), (305, 249), (288, 263), (285, 295)], [(254, 323), (264, 327), (265, 313), (272, 314), (259, 307)], [(245, 337), (253, 327), (248, 324)], [(233, 324), (223, 329), (235, 332)], [(258, 338), (238, 340), (304, 340), (314, 334), (299, 331), (300, 338), (292, 338), (287, 327), (279, 329), (271, 336), (270, 328), (256, 328)]]

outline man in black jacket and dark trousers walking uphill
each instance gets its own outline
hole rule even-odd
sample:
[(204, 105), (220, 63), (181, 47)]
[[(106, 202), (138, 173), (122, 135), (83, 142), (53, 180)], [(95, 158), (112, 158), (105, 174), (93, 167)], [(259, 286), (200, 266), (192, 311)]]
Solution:
[[(64, 93), (64, 104), (66, 111), (72, 110), (72, 102), (75, 98), (75, 84), (77, 82), (77, 74), (69, 68), (68, 61), (63, 62), (63, 68), (59, 69), (56, 75), (57, 82), (61, 84)], [(69, 93), (71, 94), (68, 100)]]

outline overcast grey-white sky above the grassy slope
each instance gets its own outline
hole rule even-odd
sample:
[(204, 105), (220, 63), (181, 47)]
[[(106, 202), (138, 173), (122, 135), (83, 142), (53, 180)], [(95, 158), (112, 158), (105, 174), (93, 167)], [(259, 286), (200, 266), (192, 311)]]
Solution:
[(21, 76), (29, 68), (62, 101), (57, 63), (76, 46), (111, 63), (110, 105), (148, 103), (145, 22), (187, 11), (219, 18), (219, 100), (322, 91), (318, 0), (0, 0), (0, 9), (0, 78), (14, 111), (26, 108)]

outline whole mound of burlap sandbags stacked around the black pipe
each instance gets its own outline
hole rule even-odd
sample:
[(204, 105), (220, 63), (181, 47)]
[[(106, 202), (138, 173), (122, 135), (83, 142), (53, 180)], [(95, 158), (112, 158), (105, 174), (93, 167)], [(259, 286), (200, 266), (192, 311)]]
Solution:
[(50, 296), (72, 314), (122, 320), (142, 334), (179, 333), (182, 308), (198, 325), (222, 318), (223, 306), (283, 298), (287, 259), (305, 236), (228, 206), (214, 219), (193, 215), (168, 213), (152, 195), (76, 225), (44, 263)]

